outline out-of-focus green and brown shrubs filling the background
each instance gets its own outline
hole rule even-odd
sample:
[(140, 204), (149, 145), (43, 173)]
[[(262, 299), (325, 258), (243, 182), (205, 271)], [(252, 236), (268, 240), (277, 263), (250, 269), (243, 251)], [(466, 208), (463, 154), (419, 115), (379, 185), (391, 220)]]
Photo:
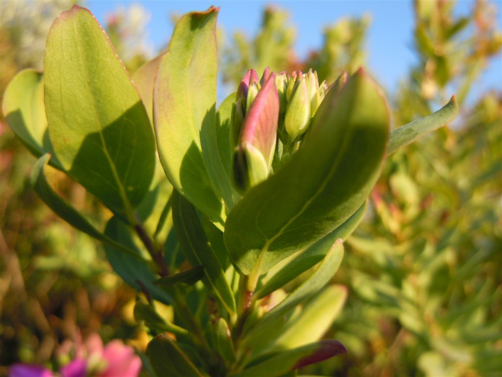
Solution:
[[(2, 95), (16, 72), (42, 67), (47, 31), (73, 3), (2, 5)], [(450, 93), (461, 114), (388, 159), (333, 281), (347, 287), (348, 298), (326, 336), (349, 354), (305, 374), (502, 373), (502, 93), (476, 90), (502, 36), (491, 3), (473, 3), (465, 17), (454, 16), (454, 7), (414, 3), (418, 62), (388, 96), (395, 127), (437, 110)], [(154, 53), (148, 19), (131, 4), (103, 25), (131, 73)], [(288, 12), (266, 8), (254, 37), (218, 30), (222, 81), (233, 88), (249, 67), (270, 66), (312, 67), (330, 82), (364, 64), (370, 22), (369, 15), (338, 20), (324, 30), (322, 47), (301, 60)], [(79, 333), (98, 331), (105, 341), (118, 337), (144, 350), (135, 292), (111, 271), (101, 245), (36, 197), (29, 186), (35, 159), (3, 119), (0, 161), (0, 375), (18, 361), (54, 362), (57, 345)], [(102, 229), (110, 214), (94, 198), (55, 170), (49, 179)]]

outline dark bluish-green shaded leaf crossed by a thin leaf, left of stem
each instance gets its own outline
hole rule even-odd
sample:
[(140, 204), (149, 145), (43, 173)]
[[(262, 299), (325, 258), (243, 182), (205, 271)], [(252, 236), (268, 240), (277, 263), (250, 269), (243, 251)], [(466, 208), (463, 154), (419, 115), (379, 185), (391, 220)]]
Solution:
[[(141, 256), (140, 247), (135, 241), (132, 229), (118, 217), (113, 216), (106, 224), (104, 234), (116, 242), (126, 245), (134, 250), (137, 256)], [(137, 257), (125, 254), (115, 247), (105, 245), (104, 251), (113, 270), (124, 279), (131, 287), (138, 291), (148, 291), (153, 299), (164, 304), (171, 304), (172, 298), (161, 288), (157, 287), (153, 281), (157, 280), (157, 274), (152, 270), (150, 263), (140, 262)]]

